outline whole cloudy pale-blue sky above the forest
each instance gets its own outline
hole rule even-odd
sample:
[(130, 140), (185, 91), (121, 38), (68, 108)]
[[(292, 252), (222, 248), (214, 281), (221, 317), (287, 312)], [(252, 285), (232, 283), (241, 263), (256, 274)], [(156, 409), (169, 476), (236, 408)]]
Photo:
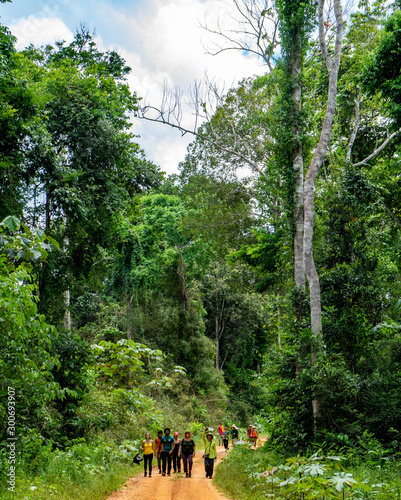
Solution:
[[(226, 91), (244, 77), (263, 74), (260, 61), (238, 51), (213, 56), (205, 46), (212, 35), (201, 24), (232, 22), (233, 0), (13, 0), (0, 4), (0, 22), (18, 38), (17, 48), (56, 40), (70, 42), (84, 23), (96, 32), (101, 50), (116, 50), (132, 68), (128, 84), (144, 102), (159, 106), (164, 83), (179, 87), (184, 103), (189, 88), (204, 78), (220, 82)], [(183, 125), (193, 115), (184, 107)], [(178, 171), (193, 140), (166, 125), (133, 119), (132, 131), (146, 157), (170, 173)]]

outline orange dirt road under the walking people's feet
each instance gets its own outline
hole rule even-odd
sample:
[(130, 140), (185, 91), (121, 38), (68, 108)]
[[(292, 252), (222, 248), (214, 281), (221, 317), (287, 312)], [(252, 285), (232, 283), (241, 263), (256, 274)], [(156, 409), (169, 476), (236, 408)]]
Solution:
[[(196, 452), (191, 478), (186, 478), (182, 472), (163, 477), (154, 467), (152, 477), (143, 477), (142, 472), (107, 500), (228, 500), (213, 486), (212, 480), (206, 479), (202, 455), (203, 451)], [(224, 448), (218, 446), (215, 467), (225, 455)]]

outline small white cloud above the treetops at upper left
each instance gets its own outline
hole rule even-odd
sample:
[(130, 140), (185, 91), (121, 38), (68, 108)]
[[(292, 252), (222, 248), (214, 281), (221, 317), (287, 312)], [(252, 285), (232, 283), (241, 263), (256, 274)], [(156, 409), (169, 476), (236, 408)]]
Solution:
[(36, 46), (53, 44), (57, 40), (71, 42), (72, 31), (57, 17), (22, 18), (10, 26), (10, 30), (18, 39), (17, 48), (23, 49), (33, 43)]

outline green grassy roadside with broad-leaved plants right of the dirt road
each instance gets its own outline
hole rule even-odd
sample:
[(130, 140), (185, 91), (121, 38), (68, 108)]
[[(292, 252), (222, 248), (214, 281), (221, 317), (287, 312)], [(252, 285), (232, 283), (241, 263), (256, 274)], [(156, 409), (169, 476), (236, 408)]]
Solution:
[(316, 452), (286, 459), (266, 447), (235, 446), (219, 464), (215, 485), (235, 500), (400, 500), (398, 458), (372, 460), (371, 454), (358, 453), (324, 456)]

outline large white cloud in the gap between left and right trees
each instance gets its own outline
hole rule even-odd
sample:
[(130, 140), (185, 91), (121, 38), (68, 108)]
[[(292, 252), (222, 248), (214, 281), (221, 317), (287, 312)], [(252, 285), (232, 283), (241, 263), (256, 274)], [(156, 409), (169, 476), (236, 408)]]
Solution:
[[(179, 86), (189, 100), (188, 89), (205, 72), (210, 78), (225, 82), (226, 90), (246, 76), (262, 74), (264, 69), (255, 59), (238, 51), (227, 51), (218, 56), (206, 53), (201, 38), (208, 33), (200, 26), (218, 18), (232, 22), (231, 0), (149, 0), (146, 11), (127, 15), (111, 5), (104, 5), (102, 16), (109, 26), (118, 27), (116, 39), (124, 39), (117, 47), (133, 68), (129, 83), (147, 103), (159, 105), (166, 81)], [(193, 116), (184, 108), (183, 123), (191, 128)], [(186, 147), (193, 139), (181, 137), (176, 130), (160, 124), (135, 124), (141, 135), (140, 143), (148, 157), (163, 170), (174, 172), (185, 157)]]

